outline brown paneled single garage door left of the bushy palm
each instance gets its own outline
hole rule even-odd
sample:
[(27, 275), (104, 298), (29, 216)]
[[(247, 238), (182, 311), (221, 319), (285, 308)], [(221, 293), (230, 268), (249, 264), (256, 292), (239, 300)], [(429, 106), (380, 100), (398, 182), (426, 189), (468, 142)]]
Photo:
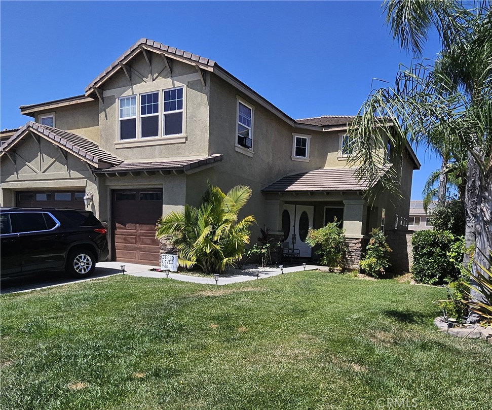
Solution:
[(112, 197), (115, 259), (158, 266), (156, 223), (162, 216), (162, 189), (118, 190)]

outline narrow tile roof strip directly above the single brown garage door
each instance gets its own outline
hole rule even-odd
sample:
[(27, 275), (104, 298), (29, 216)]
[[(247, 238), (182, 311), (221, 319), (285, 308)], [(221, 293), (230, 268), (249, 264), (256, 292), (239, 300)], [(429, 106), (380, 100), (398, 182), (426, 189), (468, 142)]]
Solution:
[(168, 161), (148, 161), (148, 162), (124, 162), (120, 165), (106, 169), (95, 170), (95, 174), (123, 173), (137, 171), (160, 171), (160, 170), (191, 170), (204, 165), (222, 161), (222, 154), (214, 154), (203, 158), (182, 158)]

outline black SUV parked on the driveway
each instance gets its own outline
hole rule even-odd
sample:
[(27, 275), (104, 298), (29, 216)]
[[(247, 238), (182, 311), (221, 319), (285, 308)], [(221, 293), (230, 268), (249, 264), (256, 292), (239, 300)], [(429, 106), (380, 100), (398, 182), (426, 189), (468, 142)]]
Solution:
[(36, 271), (66, 269), (86, 278), (107, 259), (107, 229), (90, 211), (0, 209), (2, 279)]

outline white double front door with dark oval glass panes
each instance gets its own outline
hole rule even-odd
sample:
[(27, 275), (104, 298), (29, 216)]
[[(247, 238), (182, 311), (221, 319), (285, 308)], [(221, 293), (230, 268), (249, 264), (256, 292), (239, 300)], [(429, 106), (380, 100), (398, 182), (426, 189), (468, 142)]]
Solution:
[[(299, 256), (311, 257), (311, 246), (306, 243), (308, 230), (313, 227), (314, 207), (307, 205), (284, 205), (282, 216), (282, 228), (285, 241), (289, 248), (299, 250)], [(287, 233), (287, 221), (289, 221), (289, 233)], [(285, 225), (285, 226), (284, 226)]]

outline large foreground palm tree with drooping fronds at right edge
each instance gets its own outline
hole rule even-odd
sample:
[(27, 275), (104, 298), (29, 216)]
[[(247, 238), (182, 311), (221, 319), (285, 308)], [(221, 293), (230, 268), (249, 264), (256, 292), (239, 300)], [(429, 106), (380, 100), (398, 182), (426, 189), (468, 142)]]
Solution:
[[(489, 270), (484, 255), (492, 249), (492, 10), (488, 1), (474, 7), (386, 1), (387, 22), (402, 48), (421, 55), (435, 28), (442, 50), (433, 65), (423, 60), (402, 67), (394, 87), (373, 90), (350, 130), (357, 148), (351, 160), (360, 161), (361, 178), (374, 181), (388, 140), (401, 155), (407, 139), (434, 150), (456, 147), (466, 155), (465, 241), (475, 246), (472, 283), (479, 265)], [(393, 169), (380, 187), (395, 192), (395, 186)], [(480, 299), (477, 292), (472, 296)]]

